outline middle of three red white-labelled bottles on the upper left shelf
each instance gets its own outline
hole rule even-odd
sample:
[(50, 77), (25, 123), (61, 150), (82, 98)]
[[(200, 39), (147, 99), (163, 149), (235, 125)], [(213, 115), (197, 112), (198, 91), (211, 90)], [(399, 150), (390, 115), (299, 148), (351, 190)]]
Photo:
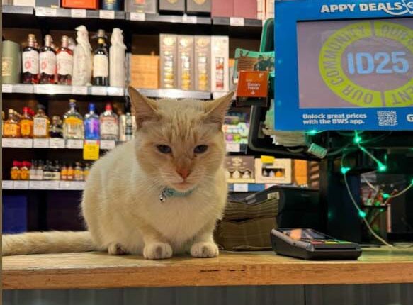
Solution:
[(52, 36), (45, 36), (45, 45), (40, 48), (40, 84), (55, 84), (56, 51), (52, 48)]

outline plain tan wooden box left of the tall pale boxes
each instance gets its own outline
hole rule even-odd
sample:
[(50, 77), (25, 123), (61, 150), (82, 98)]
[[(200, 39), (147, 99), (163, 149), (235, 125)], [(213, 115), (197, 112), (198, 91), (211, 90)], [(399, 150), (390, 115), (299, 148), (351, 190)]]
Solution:
[(140, 89), (158, 89), (159, 56), (131, 55), (130, 85)]

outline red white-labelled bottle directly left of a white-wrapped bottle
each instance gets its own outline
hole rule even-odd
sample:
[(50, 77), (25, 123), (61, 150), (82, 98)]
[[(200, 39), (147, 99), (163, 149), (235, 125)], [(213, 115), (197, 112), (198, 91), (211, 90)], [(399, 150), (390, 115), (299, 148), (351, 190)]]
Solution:
[(57, 50), (57, 84), (72, 84), (73, 51), (69, 49), (69, 38), (62, 36), (62, 46)]

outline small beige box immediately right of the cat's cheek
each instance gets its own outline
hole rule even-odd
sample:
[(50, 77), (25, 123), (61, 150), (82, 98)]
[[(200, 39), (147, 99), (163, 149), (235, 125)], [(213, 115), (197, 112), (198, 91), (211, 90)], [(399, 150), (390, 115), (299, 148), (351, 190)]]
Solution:
[(225, 177), (228, 183), (254, 183), (254, 157), (225, 157)]

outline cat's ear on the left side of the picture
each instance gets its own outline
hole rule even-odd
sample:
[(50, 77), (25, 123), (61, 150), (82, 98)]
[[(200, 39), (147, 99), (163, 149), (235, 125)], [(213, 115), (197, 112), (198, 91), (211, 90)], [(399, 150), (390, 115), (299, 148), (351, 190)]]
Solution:
[(146, 96), (140, 94), (139, 91), (133, 87), (128, 87), (130, 102), (132, 109), (135, 112), (137, 129), (142, 127), (142, 124), (147, 121), (158, 121), (159, 113), (157, 112), (157, 102), (148, 99)]

